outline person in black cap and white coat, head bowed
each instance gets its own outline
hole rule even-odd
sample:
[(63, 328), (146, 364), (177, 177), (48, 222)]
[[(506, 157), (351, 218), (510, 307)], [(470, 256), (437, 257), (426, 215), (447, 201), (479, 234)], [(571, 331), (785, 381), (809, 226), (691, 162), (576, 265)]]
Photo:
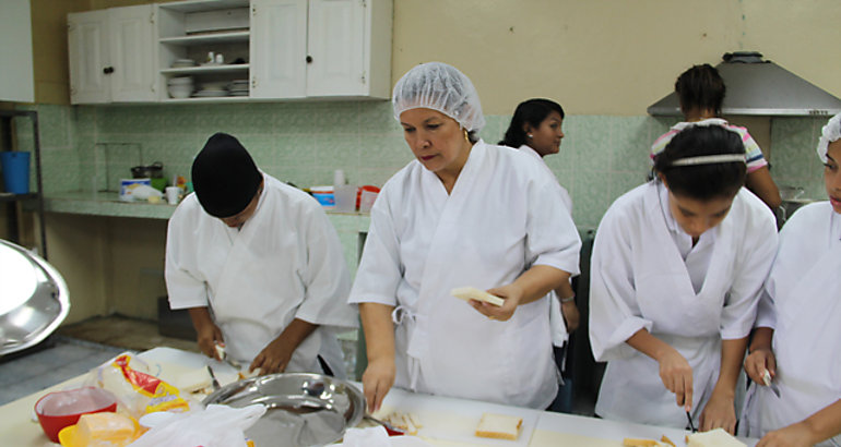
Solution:
[(169, 219), (166, 287), (201, 351), (249, 372), (344, 377), (336, 330), (357, 327), (339, 235), (321, 205), (260, 171), (232, 135), (192, 164), (196, 192)]

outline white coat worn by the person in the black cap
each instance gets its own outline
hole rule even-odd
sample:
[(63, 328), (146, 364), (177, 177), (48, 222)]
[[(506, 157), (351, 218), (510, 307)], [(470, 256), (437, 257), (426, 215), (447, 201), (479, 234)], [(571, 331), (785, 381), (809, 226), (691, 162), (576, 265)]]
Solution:
[(335, 330), (357, 327), (339, 235), (308, 194), (263, 173), (254, 214), (227, 227), (188, 195), (169, 219), (166, 285), (171, 309), (209, 306), (228, 354), (251, 362), (294, 318), (319, 325), (287, 372), (344, 376)]

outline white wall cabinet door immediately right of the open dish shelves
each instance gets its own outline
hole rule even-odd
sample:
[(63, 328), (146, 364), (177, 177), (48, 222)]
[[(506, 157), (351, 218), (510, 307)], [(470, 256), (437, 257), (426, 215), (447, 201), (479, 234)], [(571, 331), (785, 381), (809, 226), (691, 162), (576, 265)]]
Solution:
[(307, 0), (252, 0), (252, 98), (306, 95)]

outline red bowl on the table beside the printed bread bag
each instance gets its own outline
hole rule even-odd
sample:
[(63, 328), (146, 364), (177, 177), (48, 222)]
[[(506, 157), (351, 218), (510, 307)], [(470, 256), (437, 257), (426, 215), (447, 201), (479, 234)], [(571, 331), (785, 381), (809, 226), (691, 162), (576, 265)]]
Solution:
[(58, 433), (74, 425), (82, 414), (117, 411), (117, 398), (95, 387), (49, 392), (35, 402), (35, 414), (47, 437), (58, 443)]

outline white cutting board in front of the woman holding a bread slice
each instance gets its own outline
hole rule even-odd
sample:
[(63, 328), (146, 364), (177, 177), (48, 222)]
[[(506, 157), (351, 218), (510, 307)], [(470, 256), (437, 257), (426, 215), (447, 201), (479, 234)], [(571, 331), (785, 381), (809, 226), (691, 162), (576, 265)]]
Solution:
[[(422, 438), (455, 442), (477, 446), (525, 447), (537, 425), (540, 411), (507, 407), (476, 400), (452, 399), (441, 396), (412, 394), (391, 388), (375, 416), (399, 411), (412, 413), (423, 425), (417, 431)], [(482, 413), (514, 415), (523, 419), (517, 440), (493, 439), (474, 435)]]

